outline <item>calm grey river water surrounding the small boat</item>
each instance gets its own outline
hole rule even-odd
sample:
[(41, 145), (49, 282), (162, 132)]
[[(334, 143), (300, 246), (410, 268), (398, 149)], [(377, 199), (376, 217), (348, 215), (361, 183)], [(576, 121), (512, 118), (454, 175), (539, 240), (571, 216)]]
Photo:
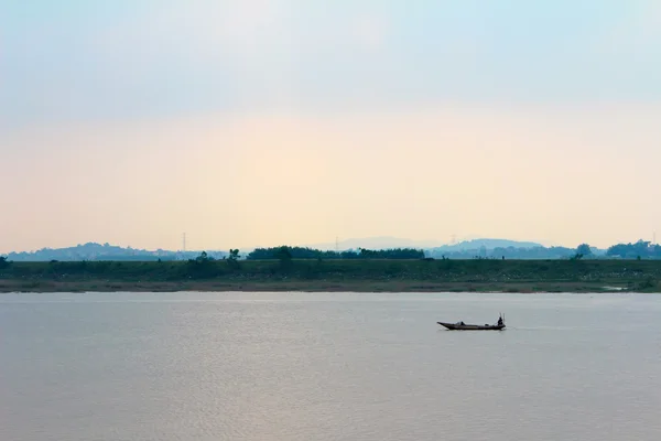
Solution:
[(660, 409), (654, 295), (0, 295), (0, 440), (659, 440)]

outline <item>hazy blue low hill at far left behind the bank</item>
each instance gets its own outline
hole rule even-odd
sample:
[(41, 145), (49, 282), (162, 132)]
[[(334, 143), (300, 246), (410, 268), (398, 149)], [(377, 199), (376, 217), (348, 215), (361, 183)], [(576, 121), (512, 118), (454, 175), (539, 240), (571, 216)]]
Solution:
[[(185, 260), (194, 259), (202, 251), (167, 251), (158, 249), (149, 251), (145, 249), (122, 248), (109, 244), (87, 243), (68, 248), (42, 248), (30, 252), (10, 252), (7, 258), (12, 261), (79, 261), (79, 260)], [(207, 251), (209, 257), (223, 258), (225, 251)]]

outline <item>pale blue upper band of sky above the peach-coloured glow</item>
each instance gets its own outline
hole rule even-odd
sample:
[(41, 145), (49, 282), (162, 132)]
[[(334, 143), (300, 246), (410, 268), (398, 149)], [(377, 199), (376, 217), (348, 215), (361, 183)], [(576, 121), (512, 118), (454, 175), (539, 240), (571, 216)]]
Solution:
[(649, 0), (2, 3), (12, 121), (661, 98)]

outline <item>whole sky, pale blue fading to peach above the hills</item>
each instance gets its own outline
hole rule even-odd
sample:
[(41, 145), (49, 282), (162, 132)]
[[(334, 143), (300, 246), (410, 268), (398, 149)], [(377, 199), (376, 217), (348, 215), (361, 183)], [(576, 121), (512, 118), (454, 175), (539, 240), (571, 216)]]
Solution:
[(0, 252), (661, 234), (657, 0), (0, 0)]

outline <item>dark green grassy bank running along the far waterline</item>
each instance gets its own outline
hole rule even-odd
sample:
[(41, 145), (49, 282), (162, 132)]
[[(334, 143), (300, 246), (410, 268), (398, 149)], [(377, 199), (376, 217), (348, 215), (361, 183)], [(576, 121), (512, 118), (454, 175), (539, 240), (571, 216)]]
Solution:
[(13, 262), (0, 292), (661, 292), (659, 260)]

